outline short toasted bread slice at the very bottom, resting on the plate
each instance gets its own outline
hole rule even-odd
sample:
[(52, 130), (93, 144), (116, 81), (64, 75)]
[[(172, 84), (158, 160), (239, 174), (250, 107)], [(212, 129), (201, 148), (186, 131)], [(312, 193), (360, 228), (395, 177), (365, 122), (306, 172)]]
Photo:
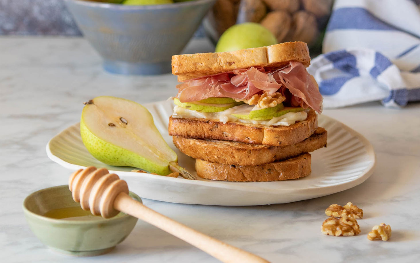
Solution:
[(311, 173), (311, 155), (304, 153), (274, 163), (255, 166), (235, 166), (195, 160), (197, 175), (211, 180), (262, 182), (299, 179)]

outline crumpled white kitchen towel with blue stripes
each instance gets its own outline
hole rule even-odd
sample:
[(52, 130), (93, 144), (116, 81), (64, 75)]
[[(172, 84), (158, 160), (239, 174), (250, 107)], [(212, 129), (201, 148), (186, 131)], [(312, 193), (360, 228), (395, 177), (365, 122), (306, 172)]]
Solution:
[(336, 0), (308, 68), (324, 108), (420, 101), (420, 0)]

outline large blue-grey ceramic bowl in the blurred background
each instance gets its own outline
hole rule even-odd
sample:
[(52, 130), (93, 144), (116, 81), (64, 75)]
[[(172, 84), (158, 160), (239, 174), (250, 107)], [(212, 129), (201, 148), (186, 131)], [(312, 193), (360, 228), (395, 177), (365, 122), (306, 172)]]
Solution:
[(166, 5), (65, 2), (84, 37), (104, 59), (105, 70), (155, 75), (171, 72), (171, 56), (185, 47), (215, 0)]

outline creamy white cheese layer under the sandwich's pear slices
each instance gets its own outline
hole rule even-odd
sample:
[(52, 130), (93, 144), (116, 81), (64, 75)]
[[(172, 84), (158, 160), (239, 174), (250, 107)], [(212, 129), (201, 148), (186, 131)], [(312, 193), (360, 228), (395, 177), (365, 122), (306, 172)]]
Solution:
[[(271, 120), (255, 121), (236, 118), (231, 114), (244, 114), (249, 113), (249, 106), (247, 104), (235, 106), (227, 110), (219, 112), (199, 112), (196, 110), (189, 110), (179, 106), (173, 108), (173, 118), (205, 118), (210, 120), (218, 120), (226, 124), (228, 121), (236, 121), (246, 124), (262, 125), (262, 126), (290, 126), (296, 121), (304, 121), (307, 118), (306, 111), (289, 112), (282, 116), (272, 118)], [(254, 106), (251, 106), (252, 108)]]

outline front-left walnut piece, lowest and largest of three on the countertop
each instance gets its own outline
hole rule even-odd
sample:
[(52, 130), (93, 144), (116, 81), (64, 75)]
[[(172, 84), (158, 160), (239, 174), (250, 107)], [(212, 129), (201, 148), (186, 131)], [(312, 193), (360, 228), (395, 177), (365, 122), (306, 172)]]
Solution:
[(329, 217), (322, 223), (321, 232), (324, 235), (331, 235), (336, 237), (354, 236), (360, 233), (360, 227), (357, 224), (356, 219), (352, 217)]

